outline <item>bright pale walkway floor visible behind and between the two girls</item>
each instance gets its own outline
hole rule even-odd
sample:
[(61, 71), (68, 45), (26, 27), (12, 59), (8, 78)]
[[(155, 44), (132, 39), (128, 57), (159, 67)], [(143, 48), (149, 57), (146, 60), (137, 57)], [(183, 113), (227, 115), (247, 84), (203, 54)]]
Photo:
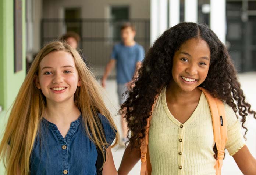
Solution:
[[(247, 102), (252, 105), (252, 109), (256, 110), (256, 72), (247, 72), (239, 74), (239, 81), (241, 82), (241, 87), (246, 95)], [(114, 121), (117, 124), (118, 131), (121, 131), (120, 116), (116, 115), (118, 113), (119, 105), (117, 98), (117, 85), (115, 80), (108, 80), (106, 82), (106, 93), (104, 93), (104, 100), (109, 108), (111, 114), (114, 116)], [(248, 146), (252, 155), (256, 158), (256, 119), (249, 116), (246, 121), (246, 126), (248, 128), (248, 133), (246, 135)], [(242, 130), (244, 132), (244, 130)], [(118, 145), (112, 149), (115, 166), (119, 167), (124, 153), (124, 148), (118, 148)], [(139, 175), (140, 172), (140, 161), (131, 170), (129, 175)], [(223, 160), (222, 175), (242, 175), (242, 172), (237, 167), (234, 159), (226, 151), (225, 159)]]

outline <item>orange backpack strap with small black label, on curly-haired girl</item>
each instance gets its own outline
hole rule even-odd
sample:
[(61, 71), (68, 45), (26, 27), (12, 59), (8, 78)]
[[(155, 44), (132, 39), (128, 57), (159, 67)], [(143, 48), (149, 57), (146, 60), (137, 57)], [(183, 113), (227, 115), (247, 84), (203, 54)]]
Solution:
[(217, 160), (214, 168), (216, 170), (216, 175), (221, 175), (222, 161), (224, 158), (225, 145), (227, 141), (227, 120), (224, 105), (221, 100), (211, 96), (206, 89), (202, 87), (199, 87), (199, 89), (205, 94), (210, 107), (213, 122), (214, 141), (218, 150)]

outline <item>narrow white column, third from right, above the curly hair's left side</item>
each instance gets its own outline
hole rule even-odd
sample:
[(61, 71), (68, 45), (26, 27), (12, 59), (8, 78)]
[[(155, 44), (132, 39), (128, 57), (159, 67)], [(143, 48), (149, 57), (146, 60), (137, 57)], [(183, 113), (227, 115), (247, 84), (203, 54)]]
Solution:
[(173, 27), (179, 23), (180, 0), (169, 0), (169, 27)]

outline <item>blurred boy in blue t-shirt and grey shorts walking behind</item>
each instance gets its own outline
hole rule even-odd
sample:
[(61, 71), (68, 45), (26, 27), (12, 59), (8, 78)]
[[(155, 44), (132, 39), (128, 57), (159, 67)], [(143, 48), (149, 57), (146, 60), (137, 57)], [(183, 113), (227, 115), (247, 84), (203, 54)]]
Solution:
[[(117, 72), (117, 93), (119, 104), (122, 105), (126, 100), (126, 94), (124, 94), (132, 85), (132, 78), (136, 77), (137, 70), (141, 65), (141, 61), (144, 58), (144, 49), (139, 45), (134, 37), (136, 35), (135, 26), (131, 23), (124, 23), (121, 27), (122, 42), (114, 45), (111, 59), (107, 63), (105, 72), (102, 78), (102, 86), (106, 87), (106, 79), (109, 76), (111, 70), (116, 65)], [(120, 146), (124, 147), (125, 142), (128, 141), (128, 128), (123, 116), (121, 116), (122, 123), (122, 139)]]

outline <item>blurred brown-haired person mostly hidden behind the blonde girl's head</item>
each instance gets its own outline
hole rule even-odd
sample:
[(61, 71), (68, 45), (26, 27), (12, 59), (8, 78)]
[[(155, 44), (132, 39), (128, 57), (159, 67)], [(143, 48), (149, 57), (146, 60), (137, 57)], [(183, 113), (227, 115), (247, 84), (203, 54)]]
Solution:
[(83, 56), (83, 52), (81, 51), (81, 49), (78, 48), (78, 43), (80, 42), (81, 39), (77, 33), (75, 33), (74, 31), (68, 31), (66, 34), (64, 34), (60, 38), (60, 40), (67, 43), (68, 45), (70, 45), (73, 49), (76, 49), (79, 52), (79, 54), (81, 55), (86, 66), (89, 67), (89, 64), (88, 64), (85, 56)]

